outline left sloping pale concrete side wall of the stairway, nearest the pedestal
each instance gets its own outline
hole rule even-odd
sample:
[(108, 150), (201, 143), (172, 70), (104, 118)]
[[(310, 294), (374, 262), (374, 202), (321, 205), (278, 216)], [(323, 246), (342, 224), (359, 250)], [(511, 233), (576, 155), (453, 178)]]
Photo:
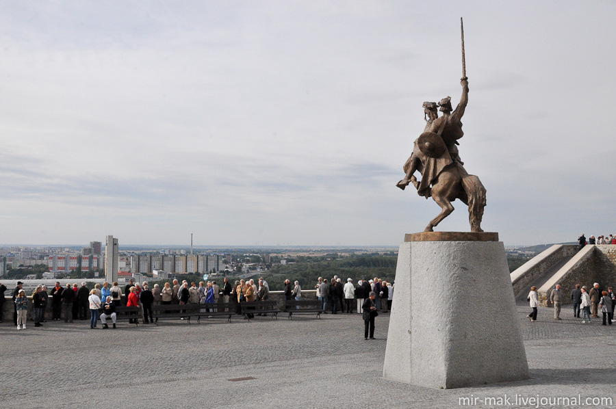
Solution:
[(552, 265), (565, 257), (573, 256), (576, 252), (577, 246), (554, 244), (548, 250), (537, 254), (537, 256), (524, 263), (524, 265), (515, 269), (510, 275), (515, 296), (517, 297), (520, 291), (524, 291), (528, 285), (535, 282)]

